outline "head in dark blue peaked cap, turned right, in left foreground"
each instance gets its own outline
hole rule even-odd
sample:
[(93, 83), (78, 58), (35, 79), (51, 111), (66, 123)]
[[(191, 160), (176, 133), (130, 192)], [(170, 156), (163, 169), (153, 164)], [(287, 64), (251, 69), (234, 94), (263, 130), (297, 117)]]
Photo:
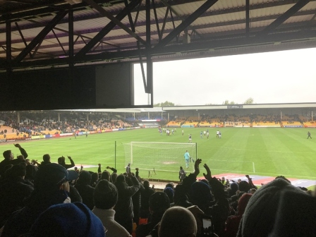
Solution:
[(78, 173), (68, 171), (59, 164), (49, 163), (39, 169), (35, 174), (35, 190), (59, 190), (63, 183), (78, 178)]

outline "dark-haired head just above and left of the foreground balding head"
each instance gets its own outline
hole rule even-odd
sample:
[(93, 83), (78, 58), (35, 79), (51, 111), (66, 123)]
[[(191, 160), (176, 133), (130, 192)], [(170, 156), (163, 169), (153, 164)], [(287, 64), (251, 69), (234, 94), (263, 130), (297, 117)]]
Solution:
[(150, 213), (164, 213), (170, 207), (170, 200), (166, 193), (156, 192), (150, 196)]

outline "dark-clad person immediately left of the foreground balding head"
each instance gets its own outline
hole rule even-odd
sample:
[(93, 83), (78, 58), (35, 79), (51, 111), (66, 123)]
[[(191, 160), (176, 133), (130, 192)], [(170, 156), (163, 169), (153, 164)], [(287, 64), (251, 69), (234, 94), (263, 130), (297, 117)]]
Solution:
[(147, 236), (154, 226), (156, 226), (159, 221), (161, 221), (164, 212), (166, 209), (170, 207), (169, 197), (166, 193), (157, 192), (150, 196), (150, 203), (149, 203), (150, 215), (151, 219), (150, 222), (147, 224), (140, 224), (136, 229), (136, 237), (145, 237)]

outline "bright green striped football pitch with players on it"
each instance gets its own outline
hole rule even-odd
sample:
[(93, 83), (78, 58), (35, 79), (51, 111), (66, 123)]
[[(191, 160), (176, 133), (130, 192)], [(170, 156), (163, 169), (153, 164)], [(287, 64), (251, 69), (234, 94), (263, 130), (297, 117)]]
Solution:
[[(316, 180), (316, 137), (307, 139), (308, 129), (219, 128), (221, 139), (216, 138), (217, 128), (208, 128), (209, 139), (204, 135), (200, 138), (200, 132), (204, 130), (207, 128), (177, 128), (174, 135), (167, 136), (166, 133), (160, 135), (157, 128), (146, 128), (91, 134), (87, 138), (82, 135), (76, 139), (67, 137), (32, 140), (20, 145), (28, 152), (29, 159), (37, 159), (38, 162), (42, 161), (43, 154), (48, 153), (51, 162), (57, 162), (61, 156), (71, 156), (78, 168), (82, 164), (85, 170), (97, 171), (97, 164), (100, 163), (102, 170), (106, 166), (116, 166), (119, 173), (123, 173), (130, 162), (130, 159), (126, 159), (123, 144), (131, 141), (188, 142), (188, 135), (192, 134), (193, 143), (197, 143), (197, 157), (202, 159), (202, 164), (209, 165), (214, 175), (282, 175)], [(316, 134), (313, 129), (310, 129), (310, 133), (312, 137)], [(15, 156), (20, 154), (13, 142), (0, 147), (2, 152), (12, 150)], [(132, 171), (138, 167), (142, 178), (148, 178), (150, 171), (150, 178), (178, 181), (179, 166), (186, 166), (183, 158), (186, 150), (174, 150), (171, 145), (170, 149), (164, 151), (164, 157), (157, 156), (157, 150), (150, 152), (149, 150), (149, 154), (143, 159), (133, 158)], [(190, 155), (195, 157), (195, 154)], [(193, 163), (190, 163), (187, 171), (193, 171)], [(201, 166), (201, 176), (203, 172), (205, 170)]]

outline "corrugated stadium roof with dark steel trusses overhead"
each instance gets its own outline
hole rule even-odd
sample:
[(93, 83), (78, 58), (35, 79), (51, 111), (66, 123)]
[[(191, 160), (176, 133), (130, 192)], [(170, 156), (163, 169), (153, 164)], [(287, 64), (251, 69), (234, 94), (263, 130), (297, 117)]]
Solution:
[(316, 47), (315, 13), (315, 0), (0, 1), (0, 70)]

